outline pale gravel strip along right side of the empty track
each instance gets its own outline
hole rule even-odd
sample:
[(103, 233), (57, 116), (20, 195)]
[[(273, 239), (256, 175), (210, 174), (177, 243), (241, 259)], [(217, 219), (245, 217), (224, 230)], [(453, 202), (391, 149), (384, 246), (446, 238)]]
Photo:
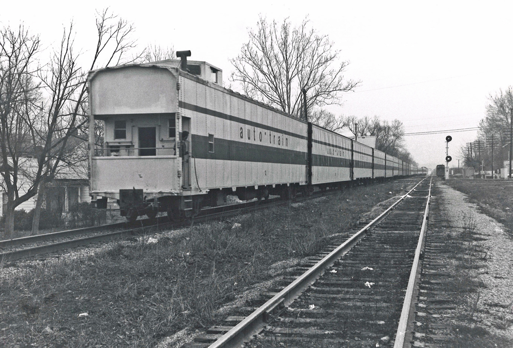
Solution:
[[(473, 271), (485, 285), (480, 290), (475, 317), (490, 333), (513, 339), (513, 325), (509, 325), (513, 321), (513, 234), (481, 213), (476, 204), (466, 200), (465, 194), (442, 183), (437, 185), (441, 192), (440, 208), (449, 225), (461, 229), (470, 221), (475, 223), (475, 232), (485, 239), (474, 242), (486, 252), (487, 259), (484, 268)], [(508, 325), (507, 329), (498, 329)]]

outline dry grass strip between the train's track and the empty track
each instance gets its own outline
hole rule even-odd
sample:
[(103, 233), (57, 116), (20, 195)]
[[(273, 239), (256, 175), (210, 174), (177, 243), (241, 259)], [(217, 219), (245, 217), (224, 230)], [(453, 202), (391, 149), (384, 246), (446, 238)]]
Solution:
[(315, 253), (405, 188), (404, 181), (358, 187), (192, 225), (156, 243), (132, 237), (93, 256), (34, 263), (0, 279), (0, 345), (141, 347), (208, 326), (224, 303), (269, 279), (273, 263)]

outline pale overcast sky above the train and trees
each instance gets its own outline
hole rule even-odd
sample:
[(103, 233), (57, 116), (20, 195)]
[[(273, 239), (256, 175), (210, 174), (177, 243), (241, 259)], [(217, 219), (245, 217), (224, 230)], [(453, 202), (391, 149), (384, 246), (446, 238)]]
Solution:
[[(513, 85), (513, 2), (487, 1), (336, 1), (336, 2), (3, 2), (2, 25), (20, 22), (39, 33), (46, 47), (58, 43), (73, 20), (77, 47), (94, 46), (95, 10), (110, 9), (133, 23), (141, 48), (149, 44), (191, 50), (190, 59), (206, 60), (232, 71), (228, 59), (247, 42), (259, 15), (300, 23), (308, 15), (320, 34), (328, 34), (348, 60), (345, 76), (361, 80), (343, 95), (339, 115), (401, 120), (406, 133), (477, 127), (488, 96)], [(476, 131), (406, 136), (419, 165), (434, 168), (449, 154), (457, 167), (459, 148)]]

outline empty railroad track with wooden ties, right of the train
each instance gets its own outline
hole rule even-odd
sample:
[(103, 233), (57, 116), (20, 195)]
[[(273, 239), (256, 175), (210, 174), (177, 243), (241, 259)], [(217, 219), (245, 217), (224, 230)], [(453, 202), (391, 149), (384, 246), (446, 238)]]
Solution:
[(240, 308), (183, 348), (411, 346), (430, 189), (422, 180), (285, 276), (260, 307)]

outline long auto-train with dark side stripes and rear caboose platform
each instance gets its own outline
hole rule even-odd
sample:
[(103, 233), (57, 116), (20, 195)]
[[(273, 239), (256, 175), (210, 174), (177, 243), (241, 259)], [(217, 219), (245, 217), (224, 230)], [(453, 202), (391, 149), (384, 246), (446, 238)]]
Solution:
[[(222, 86), (222, 70), (181, 60), (89, 73), (91, 195), (121, 215), (189, 215), (228, 194), (294, 197), (416, 166)], [(188, 53), (188, 54), (183, 54)], [(104, 122), (102, 148), (95, 120)]]

